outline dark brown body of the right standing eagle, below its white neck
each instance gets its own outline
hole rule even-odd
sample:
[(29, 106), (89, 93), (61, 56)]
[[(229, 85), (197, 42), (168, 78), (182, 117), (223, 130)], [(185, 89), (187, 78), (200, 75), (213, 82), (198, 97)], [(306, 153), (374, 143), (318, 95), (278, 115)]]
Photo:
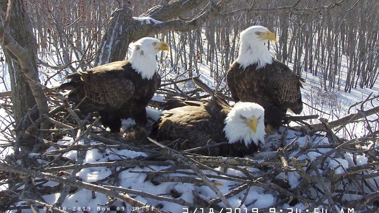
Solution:
[(282, 124), (287, 109), (296, 114), (303, 109), (300, 87), (304, 79), (274, 58), (272, 64), (258, 69), (257, 64), (242, 68), (234, 61), (226, 80), (235, 102), (260, 104), (265, 109), (266, 122), (273, 126)]

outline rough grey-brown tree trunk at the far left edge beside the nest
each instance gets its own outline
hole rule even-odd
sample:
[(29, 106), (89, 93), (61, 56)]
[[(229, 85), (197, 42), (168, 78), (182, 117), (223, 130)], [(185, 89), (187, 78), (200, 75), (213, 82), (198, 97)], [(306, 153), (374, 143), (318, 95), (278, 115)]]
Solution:
[(16, 123), (37, 104), (39, 115), (49, 111), (46, 96), (38, 85), (37, 43), (31, 19), (22, 0), (1, 0), (0, 41), (11, 79)]

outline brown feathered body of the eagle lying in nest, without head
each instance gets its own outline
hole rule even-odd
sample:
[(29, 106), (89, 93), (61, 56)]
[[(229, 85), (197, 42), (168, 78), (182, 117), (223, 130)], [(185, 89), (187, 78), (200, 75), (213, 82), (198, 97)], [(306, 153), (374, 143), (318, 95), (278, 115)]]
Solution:
[[(153, 125), (151, 136), (159, 141), (178, 142), (178, 149), (187, 150), (207, 145), (210, 140), (216, 143), (228, 141), (224, 132), (224, 120), (230, 107), (218, 95), (213, 100), (182, 101), (168, 100), (164, 103), (164, 115)], [(196, 154), (210, 156), (243, 157), (257, 151), (251, 143), (246, 147), (244, 141), (226, 144), (209, 149), (194, 151)]]

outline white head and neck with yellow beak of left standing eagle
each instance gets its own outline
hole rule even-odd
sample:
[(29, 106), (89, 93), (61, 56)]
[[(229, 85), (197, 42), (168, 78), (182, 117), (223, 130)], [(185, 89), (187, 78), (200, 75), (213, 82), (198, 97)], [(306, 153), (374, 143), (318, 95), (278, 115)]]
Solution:
[(142, 78), (151, 79), (157, 71), (155, 56), (163, 50), (169, 50), (168, 44), (152, 37), (145, 37), (131, 43), (129, 47), (132, 54), (129, 58), (135, 69)]

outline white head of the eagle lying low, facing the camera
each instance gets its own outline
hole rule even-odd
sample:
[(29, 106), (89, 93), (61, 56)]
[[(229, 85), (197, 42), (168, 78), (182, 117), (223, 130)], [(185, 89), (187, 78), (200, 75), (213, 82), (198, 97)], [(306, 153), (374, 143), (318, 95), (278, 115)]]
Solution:
[(248, 146), (265, 143), (265, 110), (257, 103), (238, 102), (228, 113), (224, 132), (229, 143), (242, 141)]

